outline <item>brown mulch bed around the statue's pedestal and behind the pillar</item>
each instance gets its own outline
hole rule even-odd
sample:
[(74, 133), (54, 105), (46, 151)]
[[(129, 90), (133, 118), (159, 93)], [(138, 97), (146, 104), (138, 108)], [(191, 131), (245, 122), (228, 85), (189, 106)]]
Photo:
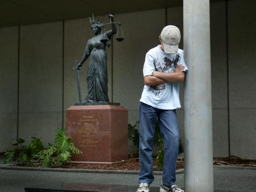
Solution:
[[(239, 157), (230, 156), (224, 158), (213, 158), (214, 165), (225, 165), (225, 166), (250, 166), (256, 167), (256, 160), (241, 159)], [(17, 165), (22, 166), (22, 165)], [(24, 166), (24, 165), (23, 165)], [(34, 164), (34, 167), (39, 166)], [(93, 170), (139, 170), (140, 161), (139, 158), (129, 158), (129, 160), (112, 164), (112, 165), (87, 165), (87, 164), (74, 164), (67, 163), (64, 165), (54, 166), (53, 168), (64, 168), (64, 169), (93, 169)], [(184, 168), (184, 158), (178, 158), (176, 169)], [(153, 170), (162, 171), (156, 166), (156, 159), (153, 159)]]

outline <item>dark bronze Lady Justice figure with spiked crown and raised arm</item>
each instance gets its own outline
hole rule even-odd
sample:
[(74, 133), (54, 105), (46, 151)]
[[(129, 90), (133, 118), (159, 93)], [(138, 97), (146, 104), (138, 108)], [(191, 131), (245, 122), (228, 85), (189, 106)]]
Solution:
[[(86, 102), (109, 102), (108, 99), (108, 74), (107, 74), (107, 54), (106, 45), (110, 47), (111, 37), (116, 33), (113, 15), (108, 15), (112, 29), (102, 32), (104, 25), (101, 19), (95, 21), (94, 15), (89, 17), (92, 24), (94, 37), (87, 41), (84, 55), (75, 69), (80, 69), (84, 61), (90, 56), (87, 73), (87, 95)], [(106, 39), (105, 41), (103, 39)]]

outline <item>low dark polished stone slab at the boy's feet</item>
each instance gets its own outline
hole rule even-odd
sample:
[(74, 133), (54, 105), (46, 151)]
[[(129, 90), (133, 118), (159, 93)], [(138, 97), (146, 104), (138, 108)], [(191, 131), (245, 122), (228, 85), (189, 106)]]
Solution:
[[(131, 185), (105, 185), (89, 183), (47, 183), (25, 187), (25, 192), (135, 192), (138, 186)], [(150, 187), (150, 192), (159, 192), (159, 187)], [(235, 192), (214, 190), (214, 192)]]

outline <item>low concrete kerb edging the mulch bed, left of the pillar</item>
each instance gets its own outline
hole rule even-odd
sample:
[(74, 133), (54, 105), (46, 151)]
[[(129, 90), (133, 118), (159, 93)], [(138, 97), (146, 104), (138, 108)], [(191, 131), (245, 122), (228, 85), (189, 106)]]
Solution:
[[(16, 164), (0, 165), (0, 169), (8, 170), (29, 170), (29, 171), (63, 171), (63, 172), (80, 172), (80, 173), (119, 173), (119, 174), (138, 174), (139, 171), (125, 170), (89, 170), (89, 169), (63, 169), (63, 168), (42, 168), (42, 167), (19, 167)], [(162, 175), (162, 171), (154, 171), (154, 175)], [(184, 173), (184, 169), (176, 170), (176, 174)]]

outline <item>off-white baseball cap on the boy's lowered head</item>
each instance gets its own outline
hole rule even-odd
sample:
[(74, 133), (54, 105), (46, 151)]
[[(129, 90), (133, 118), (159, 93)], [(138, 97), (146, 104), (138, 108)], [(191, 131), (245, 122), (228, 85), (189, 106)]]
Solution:
[(166, 53), (177, 53), (180, 41), (179, 28), (174, 25), (168, 25), (163, 28), (161, 35), (163, 49)]

